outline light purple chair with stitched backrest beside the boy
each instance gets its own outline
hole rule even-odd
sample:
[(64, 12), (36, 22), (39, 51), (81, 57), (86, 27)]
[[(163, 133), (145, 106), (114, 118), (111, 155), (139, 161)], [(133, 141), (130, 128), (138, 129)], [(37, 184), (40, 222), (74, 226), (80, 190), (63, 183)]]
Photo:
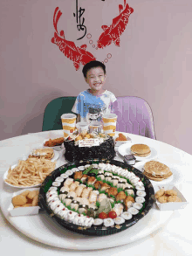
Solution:
[(148, 103), (138, 97), (117, 97), (113, 102), (113, 113), (117, 114), (117, 131), (156, 139), (154, 119)]

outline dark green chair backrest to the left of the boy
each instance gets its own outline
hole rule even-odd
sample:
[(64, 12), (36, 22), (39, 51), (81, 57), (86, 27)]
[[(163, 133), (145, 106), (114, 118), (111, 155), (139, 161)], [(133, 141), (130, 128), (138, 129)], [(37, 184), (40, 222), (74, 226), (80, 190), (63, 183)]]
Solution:
[(51, 100), (45, 107), (42, 131), (62, 129), (61, 115), (72, 113), (76, 97), (60, 97)]

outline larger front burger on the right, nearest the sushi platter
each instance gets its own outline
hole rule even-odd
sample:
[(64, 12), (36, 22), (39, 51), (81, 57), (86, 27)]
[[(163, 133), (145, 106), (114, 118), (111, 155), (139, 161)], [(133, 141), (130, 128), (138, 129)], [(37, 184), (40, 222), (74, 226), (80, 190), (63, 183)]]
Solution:
[(167, 165), (154, 160), (145, 163), (143, 174), (154, 181), (162, 181), (173, 175)]

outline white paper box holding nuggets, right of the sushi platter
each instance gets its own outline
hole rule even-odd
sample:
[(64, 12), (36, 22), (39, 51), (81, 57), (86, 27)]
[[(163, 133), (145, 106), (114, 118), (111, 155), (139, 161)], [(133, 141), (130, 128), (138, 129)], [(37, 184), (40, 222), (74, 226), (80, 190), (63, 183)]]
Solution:
[(182, 199), (182, 202), (169, 202), (169, 203), (164, 203), (161, 204), (157, 199), (155, 203), (157, 204), (158, 208), (161, 211), (174, 211), (174, 210), (179, 210), (183, 209), (186, 207), (189, 202), (185, 199), (185, 197), (182, 195), (182, 192), (178, 190), (174, 185), (168, 184), (164, 186), (157, 186), (154, 187), (154, 193), (156, 193), (158, 190), (161, 190), (161, 188), (164, 188), (165, 190), (175, 190), (177, 192), (177, 197)]

